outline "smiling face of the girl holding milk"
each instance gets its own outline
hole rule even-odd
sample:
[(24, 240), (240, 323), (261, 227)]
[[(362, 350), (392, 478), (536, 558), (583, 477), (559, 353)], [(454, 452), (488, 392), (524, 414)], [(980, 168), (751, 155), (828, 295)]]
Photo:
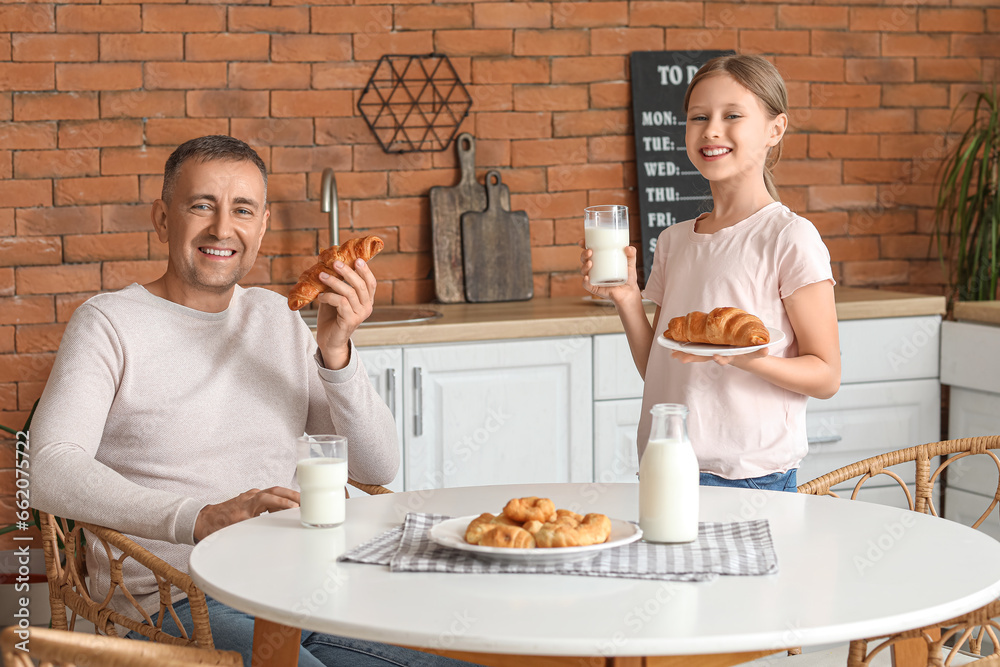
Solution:
[(702, 79), (691, 91), (685, 143), (688, 157), (712, 182), (763, 182), (764, 160), (788, 118), (769, 118), (756, 95), (729, 74)]

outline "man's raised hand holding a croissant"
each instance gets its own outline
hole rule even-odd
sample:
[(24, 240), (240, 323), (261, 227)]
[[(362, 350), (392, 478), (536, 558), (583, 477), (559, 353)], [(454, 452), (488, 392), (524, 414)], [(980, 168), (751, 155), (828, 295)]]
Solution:
[(316, 342), (323, 353), (324, 364), (331, 370), (347, 366), (351, 334), (372, 314), (375, 302), (375, 276), (364, 260), (357, 260), (353, 268), (337, 262), (334, 270), (340, 275), (320, 274), (319, 279), (331, 291), (316, 298), (320, 304)]

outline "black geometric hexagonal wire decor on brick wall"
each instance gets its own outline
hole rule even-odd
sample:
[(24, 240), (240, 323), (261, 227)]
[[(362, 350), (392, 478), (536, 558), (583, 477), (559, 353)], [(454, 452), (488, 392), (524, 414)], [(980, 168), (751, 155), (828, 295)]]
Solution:
[(448, 56), (436, 53), (382, 56), (358, 98), (386, 153), (444, 150), (471, 107)]

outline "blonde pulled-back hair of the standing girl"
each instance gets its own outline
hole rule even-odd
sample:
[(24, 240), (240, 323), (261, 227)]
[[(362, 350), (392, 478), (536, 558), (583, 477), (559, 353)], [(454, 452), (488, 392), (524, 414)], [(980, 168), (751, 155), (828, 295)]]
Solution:
[[(691, 91), (698, 82), (716, 74), (728, 74), (736, 82), (757, 96), (767, 114), (773, 119), (779, 114), (788, 115), (788, 91), (781, 74), (770, 62), (760, 56), (732, 55), (712, 58), (702, 65), (701, 69), (691, 79), (687, 92), (684, 93), (684, 113), (687, 113), (691, 101)], [(776, 146), (767, 152), (764, 160), (764, 185), (773, 199), (778, 200), (778, 188), (774, 185), (772, 170), (781, 159), (782, 138)]]

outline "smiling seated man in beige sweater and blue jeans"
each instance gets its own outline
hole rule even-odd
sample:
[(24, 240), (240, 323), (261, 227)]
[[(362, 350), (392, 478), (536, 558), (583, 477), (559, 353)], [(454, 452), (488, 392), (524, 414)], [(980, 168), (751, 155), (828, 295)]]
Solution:
[[(298, 505), (303, 432), (346, 435), (354, 479), (394, 478), (392, 416), (350, 341), (371, 313), (375, 278), (361, 260), (321, 275), (331, 291), (318, 297), (315, 341), (282, 296), (240, 287), (267, 229), (266, 195), (264, 163), (237, 139), (193, 139), (167, 160), (151, 213), (166, 272), (97, 295), (70, 320), (31, 429), (35, 507), (135, 536), (187, 571), (192, 545), (210, 533)], [(87, 563), (100, 599), (107, 555), (89, 544)], [(126, 563), (129, 591), (155, 615), (152, 575)], [(113, 605), (139, 618), (120, 592)], [(190, 624), (186, 601), (175, 606)], [(215, 600), (209, 615), (216, 646), (249, 665), (253, 619)], [(440, 661), (304, 632), (299, 664)]]

